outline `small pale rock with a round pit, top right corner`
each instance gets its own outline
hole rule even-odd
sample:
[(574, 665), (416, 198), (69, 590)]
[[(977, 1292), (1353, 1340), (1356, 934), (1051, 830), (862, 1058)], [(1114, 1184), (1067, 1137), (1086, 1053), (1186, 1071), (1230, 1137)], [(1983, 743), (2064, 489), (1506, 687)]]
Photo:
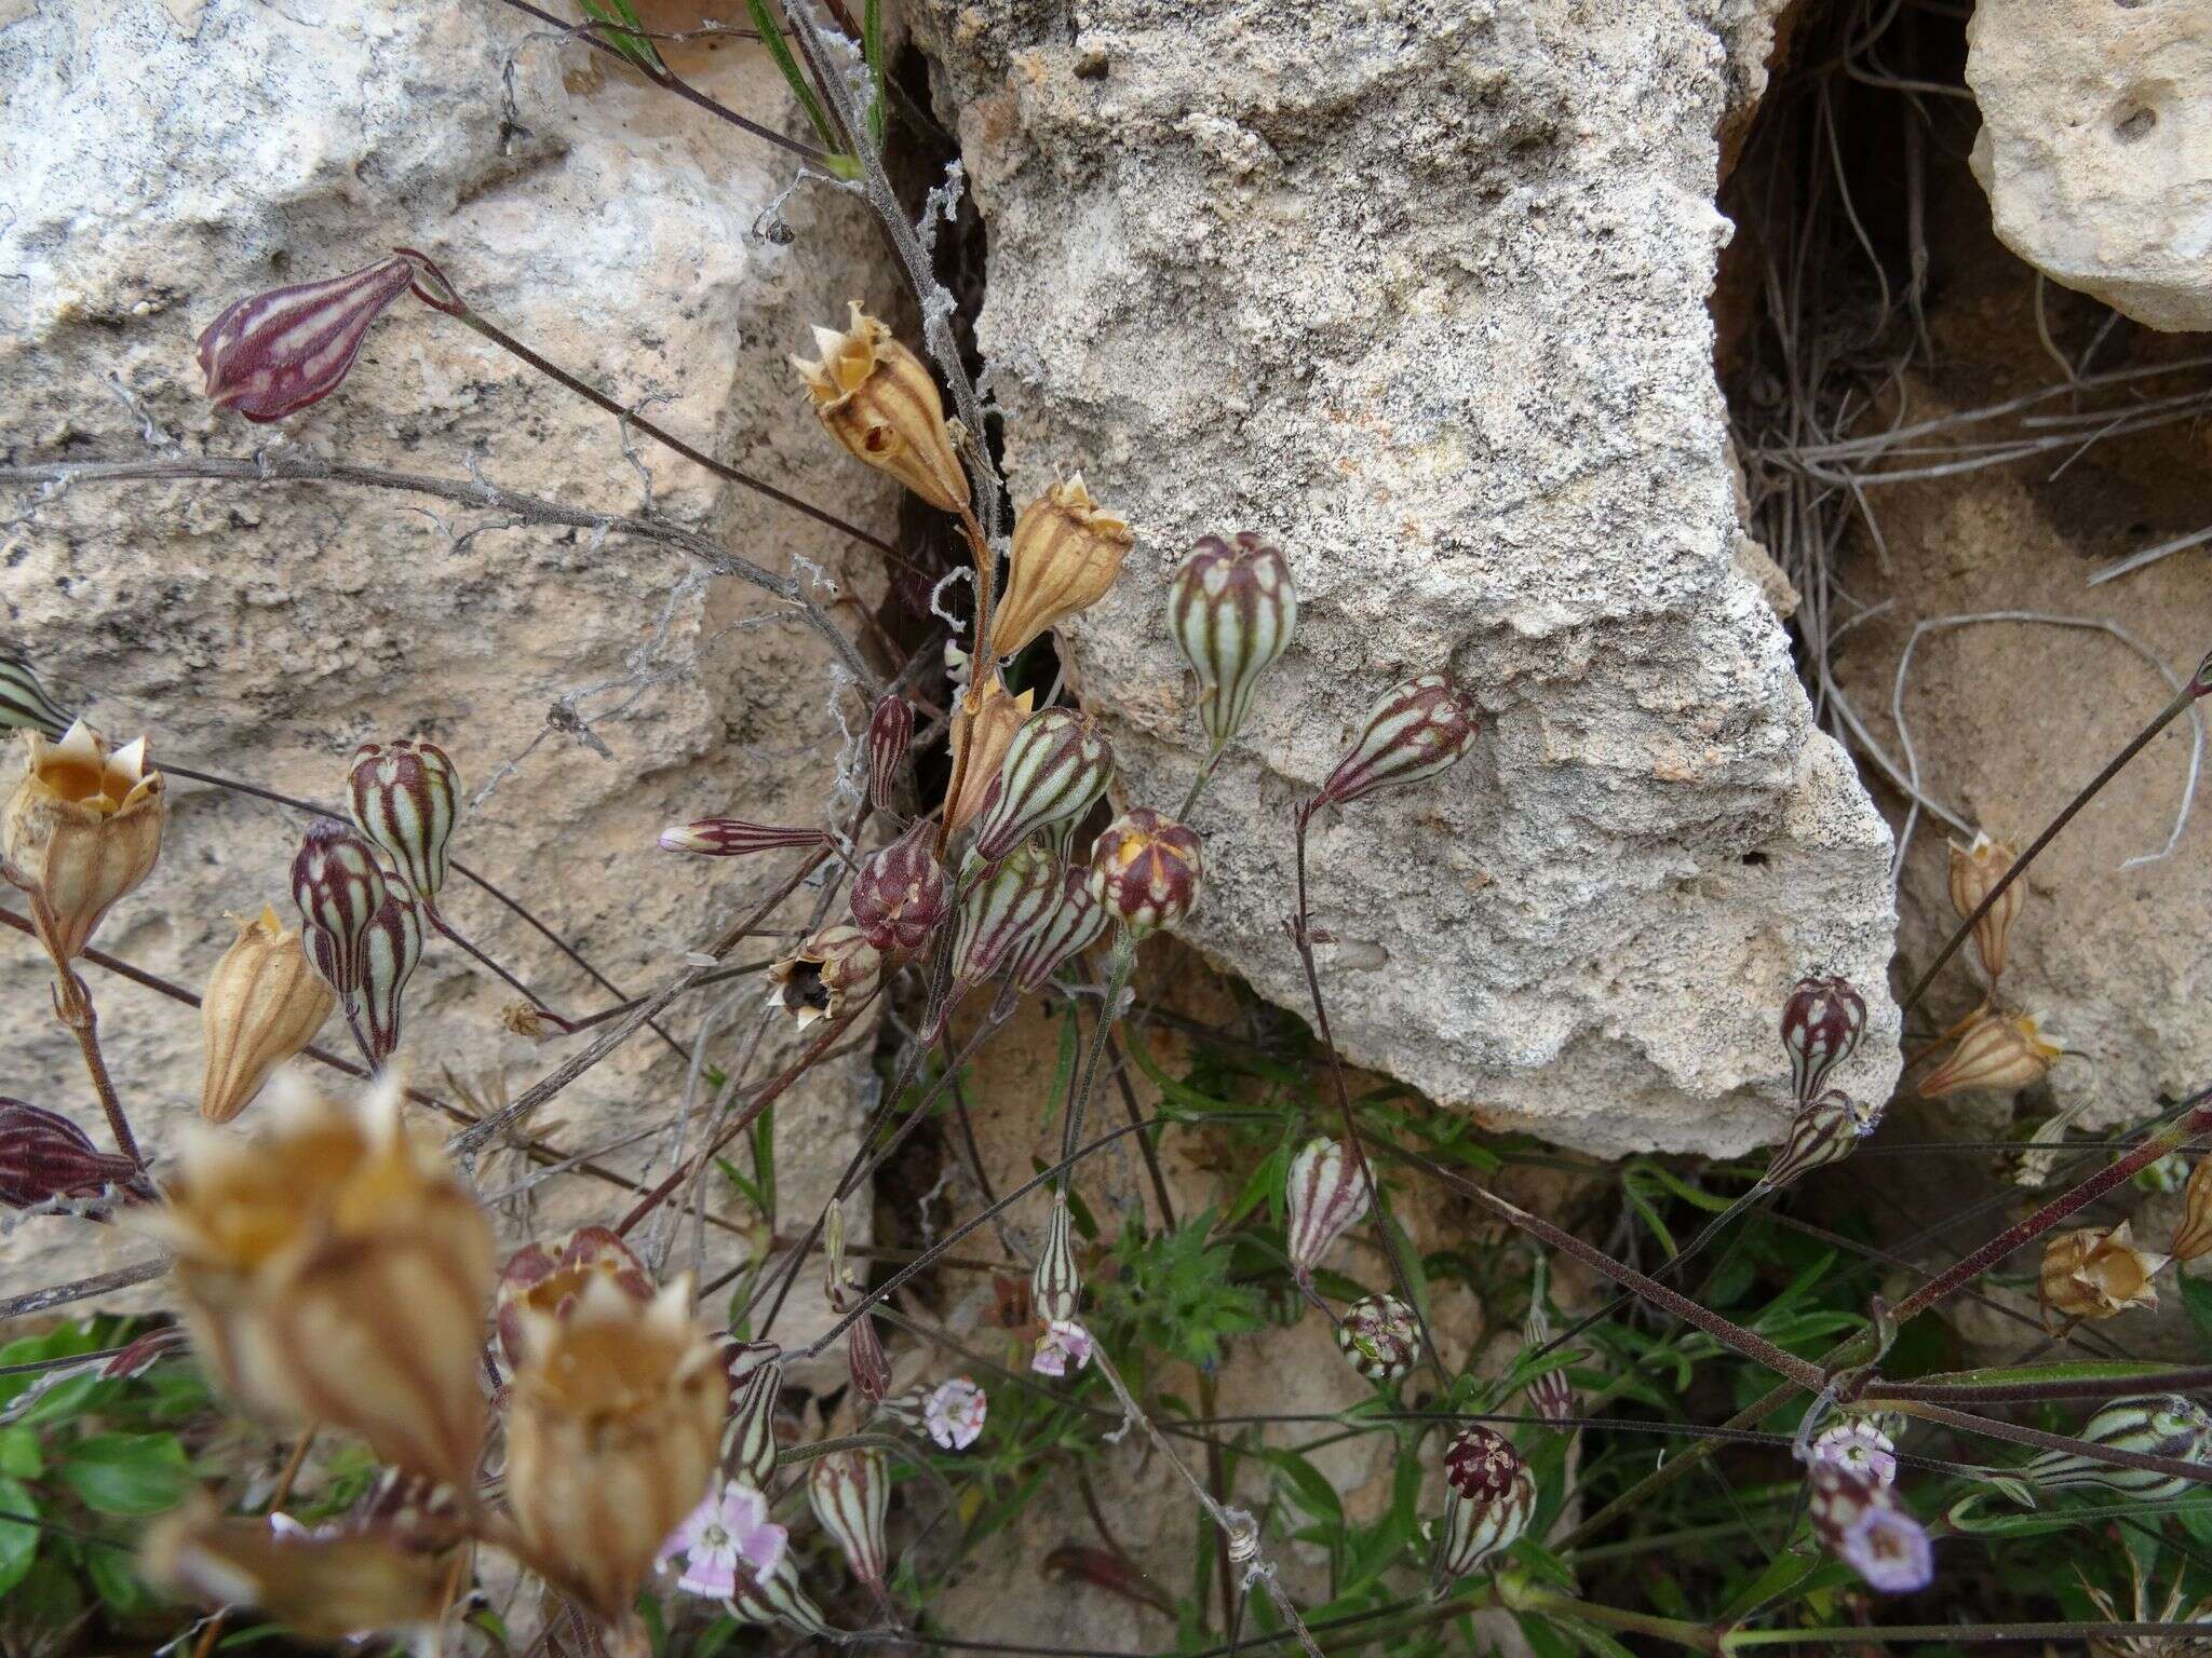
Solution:
[(2203, 7), (1980, 0), (1966, 42), (2004, 245), (2139, 323), (2212, 329)]

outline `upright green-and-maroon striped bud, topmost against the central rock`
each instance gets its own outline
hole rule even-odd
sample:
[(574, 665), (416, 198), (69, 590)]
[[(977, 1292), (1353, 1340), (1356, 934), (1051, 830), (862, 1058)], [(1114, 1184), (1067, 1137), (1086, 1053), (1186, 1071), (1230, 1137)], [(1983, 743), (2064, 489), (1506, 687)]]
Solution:
[(1223, 747), (1252, 712), (1276, 657), (1298, 626), (1298, 588), (1283, 550), (1252, 531), (1234, 542), (1201, 535), (1168, 584), (1168, 628), (1199, 676), (1199, 725)]

